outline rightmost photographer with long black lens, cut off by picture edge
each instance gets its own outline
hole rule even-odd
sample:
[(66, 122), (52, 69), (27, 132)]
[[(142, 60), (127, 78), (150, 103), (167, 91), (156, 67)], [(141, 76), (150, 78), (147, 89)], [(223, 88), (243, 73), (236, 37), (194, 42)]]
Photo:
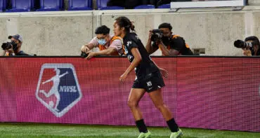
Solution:
[(260, 42), (256, 36), (249, 36), (245, 38), (245, 41), (237, 40), (234, 42), (236, 48), (242, 48), (243, 55), (245, 56), (257, 56), (260, 55)]

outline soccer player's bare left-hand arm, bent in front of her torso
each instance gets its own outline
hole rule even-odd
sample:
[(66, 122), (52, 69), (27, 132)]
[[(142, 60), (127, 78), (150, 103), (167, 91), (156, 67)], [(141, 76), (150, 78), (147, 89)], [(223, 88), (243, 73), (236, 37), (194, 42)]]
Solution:
[(119, 81), (121, 81), (122, 83), (124, 83), (128, 74), (130, 74), (130, 72), (134, 68), (136, 68), (138, 66), (138, 64), (142, 61), (142, 57), (141, 57), (141, 54), (140, 54), (138, 48), (131, 48), (131, 53), (134, 56), (134, 60), (133, 60), (133, 62), (131, 62), (130, 66), (126, 69), (126, 71), (124, 71), (124, 74), (122, 74), (122, 76), (120, 76)]

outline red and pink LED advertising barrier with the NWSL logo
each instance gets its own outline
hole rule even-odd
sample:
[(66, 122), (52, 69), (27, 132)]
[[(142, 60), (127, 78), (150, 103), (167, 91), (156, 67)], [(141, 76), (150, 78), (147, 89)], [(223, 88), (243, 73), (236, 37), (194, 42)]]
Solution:
[[(152, 57), (169, 71), (164, 102), (181, 127), (260, 132), (260, 58)], [(1, 57), (0, 122), (134, 125), (125, 57)], [(167, 126), (145, 95), (149, 126)]]

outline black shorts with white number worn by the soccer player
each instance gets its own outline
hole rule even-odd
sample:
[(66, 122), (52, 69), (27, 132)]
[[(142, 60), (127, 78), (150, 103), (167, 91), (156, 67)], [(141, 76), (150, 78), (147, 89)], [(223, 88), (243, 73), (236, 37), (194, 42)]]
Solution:
[(152, 92), (164, 87), (164, 79), (160, 71), (156, 71), (150, 75), (150, 77), (143, 79), (142, 81), (135, 80), (132, 88), (142, 88), (146, 92)]

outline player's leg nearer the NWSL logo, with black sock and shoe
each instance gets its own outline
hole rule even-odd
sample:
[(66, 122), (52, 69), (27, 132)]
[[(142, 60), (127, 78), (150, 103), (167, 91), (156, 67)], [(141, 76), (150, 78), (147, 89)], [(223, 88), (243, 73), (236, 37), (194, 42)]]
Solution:
[(131, 112), (134, 116), (134, 119), (136, 120), (136, 126), (138, 127), (138, 130), (140, 132), (138, 138), (149, 138), (150, 137), (150, 132), (148, 131), (148, 129), (144, 123), (140, 107), (138, 106), (138, 103), (144, 94), (145, 94), (145, 90), (142, 88), (131, 88), (131, 92), (129, 94), (129, 99), (127, 102), (128, 106), (130, 107)]

